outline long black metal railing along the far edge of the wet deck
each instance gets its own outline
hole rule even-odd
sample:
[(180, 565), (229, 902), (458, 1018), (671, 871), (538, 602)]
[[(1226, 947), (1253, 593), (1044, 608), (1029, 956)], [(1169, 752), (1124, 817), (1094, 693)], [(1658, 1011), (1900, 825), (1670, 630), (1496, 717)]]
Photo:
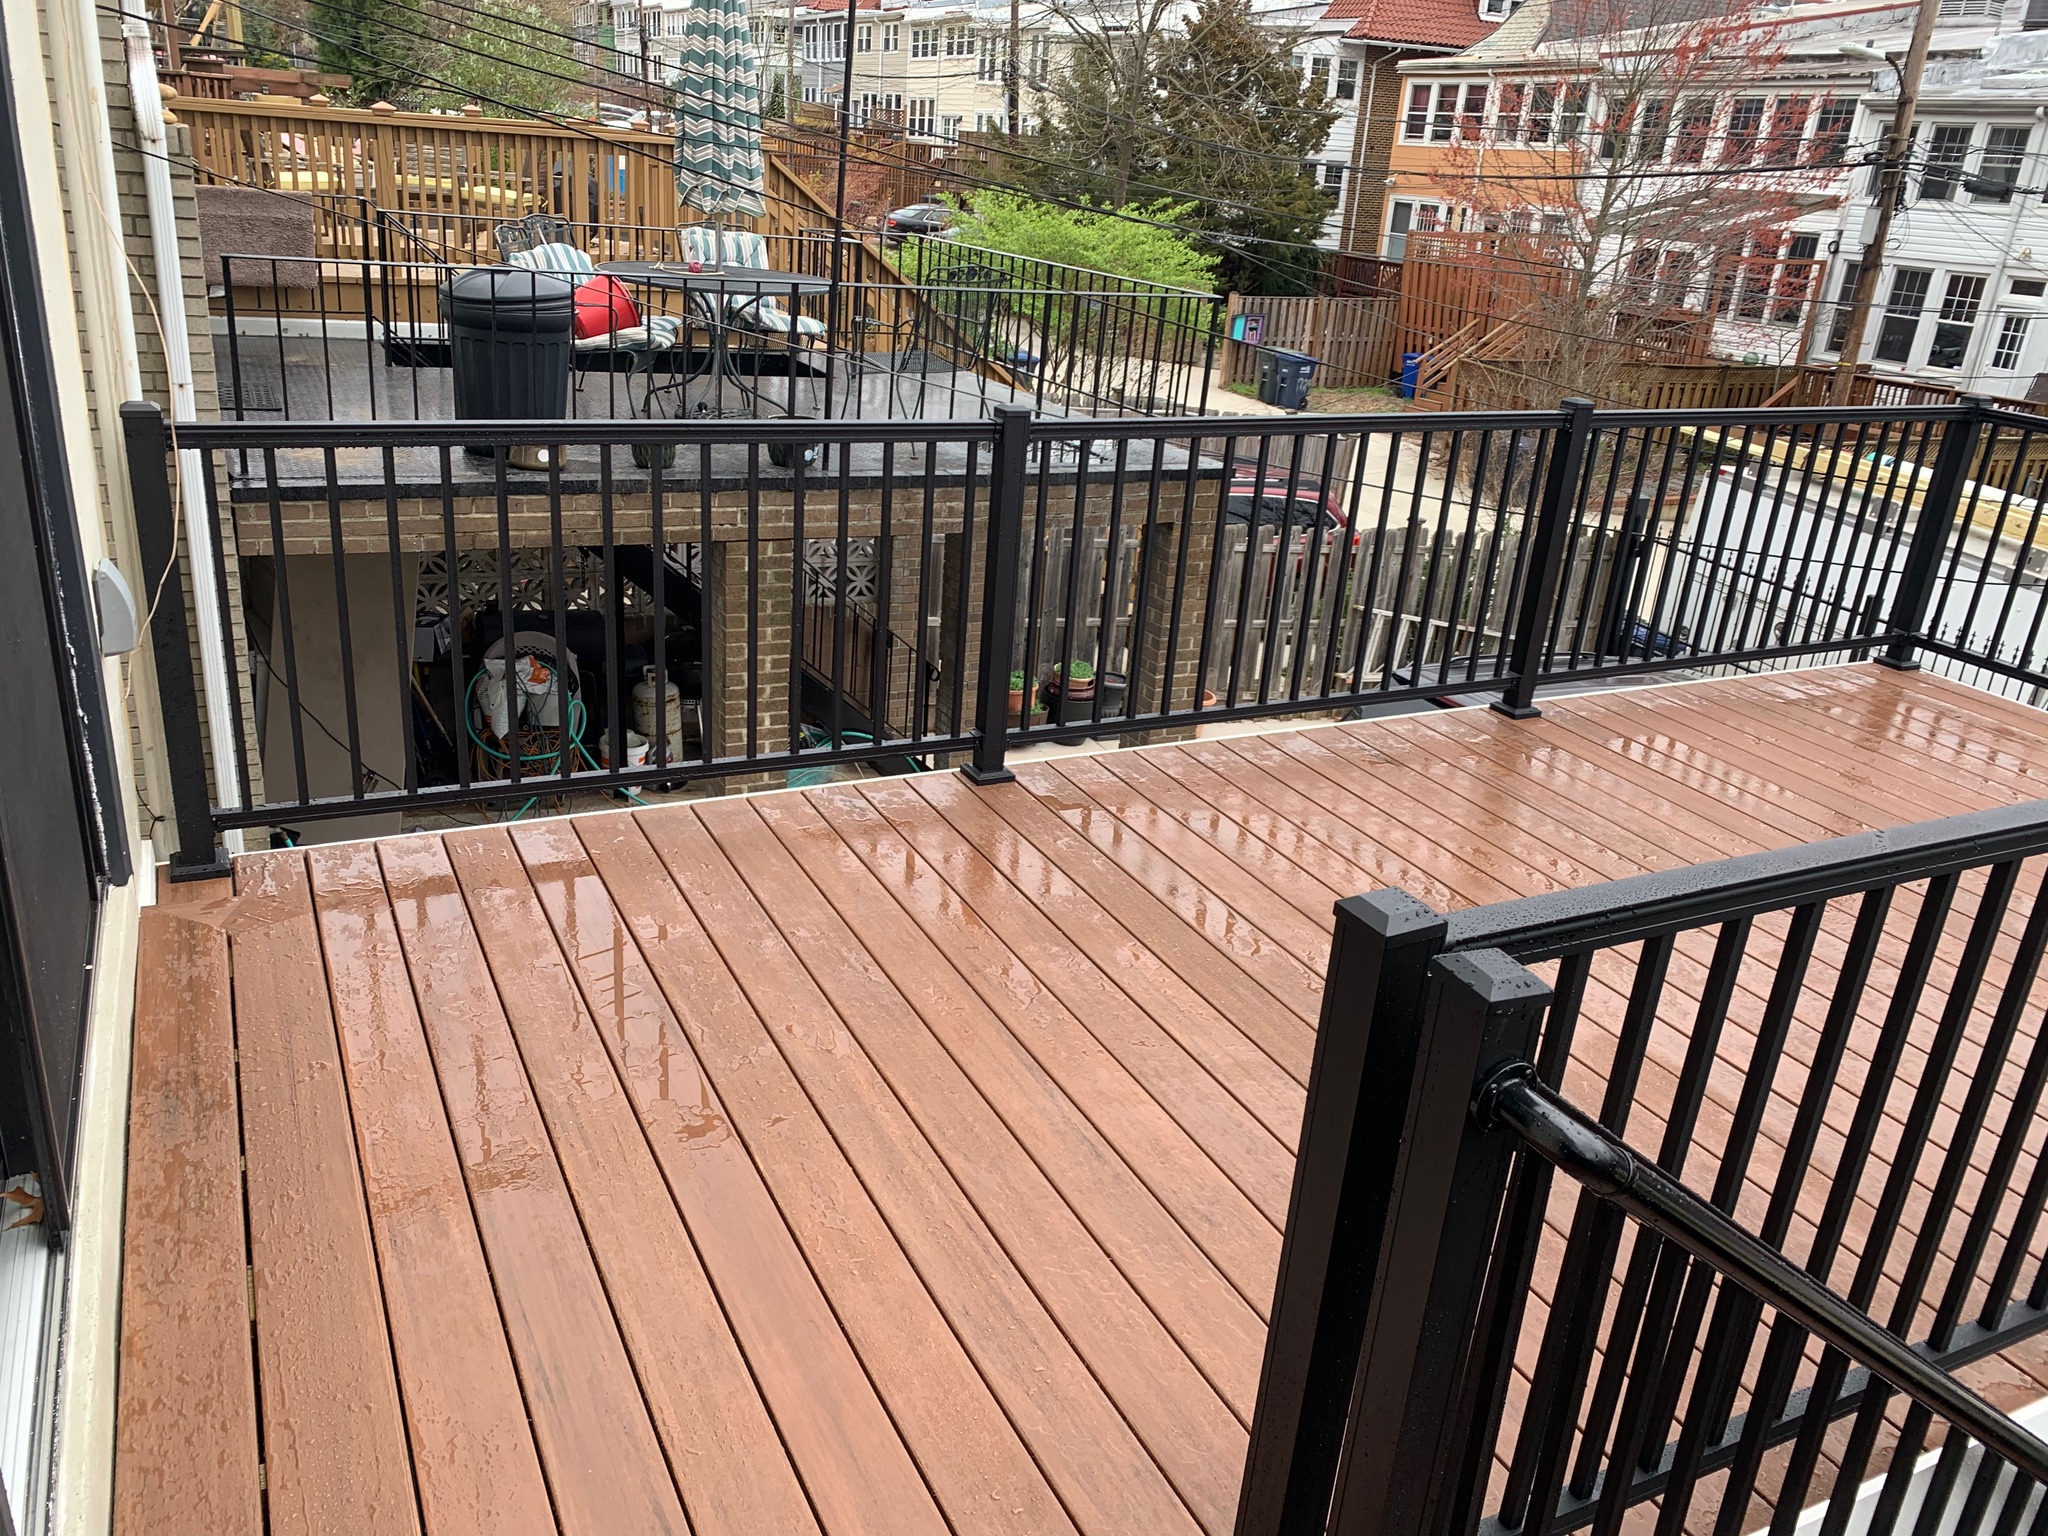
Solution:
[[(129, 434), (137, 508), (168, 518), (166, 430), (141, 408)], [(1526, 715), (1538, 688), (1616, 676), (1872, 653), (2007, 690), (2044, 676), (2048, 528), (2001, 485), (2048, 440), (1974, 403), (244, 420), (182, 426), (178, 446), (199, 469), (184, 494), (213, 510), (203, 553), (238, 647), (223, 705), (244, 727), (238, 774), (190, 811), (180, 797), (193, 846), (524, 803), (535, 778), (567, 797), (971, 752), (991, 780), (1034, 741), (1417, 700)], [(160, 643), (180, 633), (168, 612)], [(594, 690), (578, 680), (575, 721), (547, 727), (571, 739), (545, 737), (539, 772), (475, 739), (504, 614)], [(393, 641), (358, 664), (365, 635)], [(643, 733), (639, 764), (623, 731), (649, 666), (688, 743)]]

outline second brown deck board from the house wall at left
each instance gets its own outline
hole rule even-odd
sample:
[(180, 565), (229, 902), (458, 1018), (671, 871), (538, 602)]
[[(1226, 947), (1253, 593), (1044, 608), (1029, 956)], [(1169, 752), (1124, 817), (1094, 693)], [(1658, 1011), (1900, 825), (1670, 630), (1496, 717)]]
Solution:
[[(236, 1049), (266, 1507), (279, 1536), (420, 1530), (336, 1001), (305, 862), (236, 864)], [(350, 999), (340, 999), (344, 1018)]]

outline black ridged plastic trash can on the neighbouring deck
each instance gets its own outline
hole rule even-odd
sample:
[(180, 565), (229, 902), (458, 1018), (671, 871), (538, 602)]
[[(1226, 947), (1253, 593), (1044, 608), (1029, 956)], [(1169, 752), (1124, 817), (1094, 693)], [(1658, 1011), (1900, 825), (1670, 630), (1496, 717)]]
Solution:
[[(559, 420), (569, 414), (575, 360), (575, 285), (518, 266), (471, 266), (440, 289), (461, 420)], [(492, 449), (467, 449), (487, 459)], [(545, 469), (547, 449), (518, 446), (510, 461)]]

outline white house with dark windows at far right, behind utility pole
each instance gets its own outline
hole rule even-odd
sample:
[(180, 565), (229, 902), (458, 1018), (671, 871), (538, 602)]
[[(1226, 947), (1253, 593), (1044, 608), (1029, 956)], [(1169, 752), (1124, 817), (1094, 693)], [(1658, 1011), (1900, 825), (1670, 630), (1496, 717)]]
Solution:
[[(1962, 10), (1968, 0), (1950, 0)], [(2040, 397), (2048, 373), (2048, 14), (2019, 0), (1972, 6), (1939, 33), (1921, 86), (1905, 197), (1892, 215), (1858, 358), (1880, 379), (1921, 379), (1989, 395)], [(1872, 35), (1894, 51), (1903, 37)], [(1855, 137), (1876, 143), (1896, 104), (1880, 70)], [(1829, 244), (1829, 297), (1855, 285), (1876, 217), (1876, 172), (1855, 178)], [(1815, 338), (1819, 360), (1847, 344), (1837, 305)]]

